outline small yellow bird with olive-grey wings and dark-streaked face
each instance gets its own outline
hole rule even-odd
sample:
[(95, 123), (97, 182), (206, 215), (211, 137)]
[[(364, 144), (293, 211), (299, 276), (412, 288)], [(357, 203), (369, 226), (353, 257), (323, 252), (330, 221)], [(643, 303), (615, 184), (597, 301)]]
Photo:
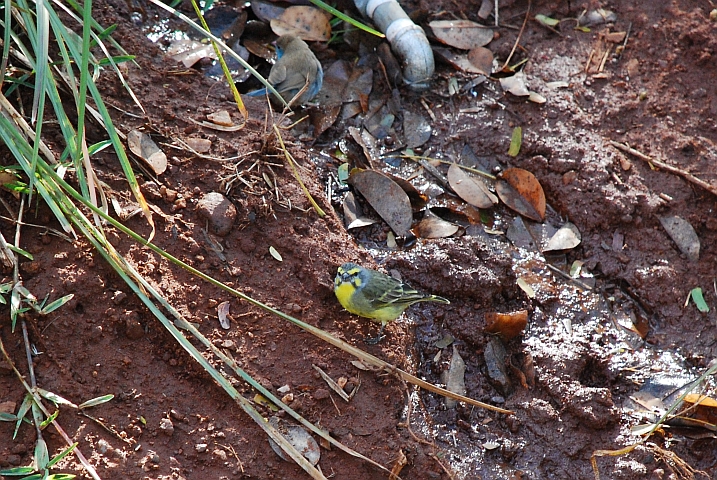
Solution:
[(378, 337), (365, 340), (372, 344), (383, 339), (381, 334), (388, 322), (396, 320), (414, 303), (451, 303), (437, 295), (418, 293), (393, 277), (355, 263), (344, 263), (339, 267), (334, 279), (334, 293), (349, 312), (381, 322)]

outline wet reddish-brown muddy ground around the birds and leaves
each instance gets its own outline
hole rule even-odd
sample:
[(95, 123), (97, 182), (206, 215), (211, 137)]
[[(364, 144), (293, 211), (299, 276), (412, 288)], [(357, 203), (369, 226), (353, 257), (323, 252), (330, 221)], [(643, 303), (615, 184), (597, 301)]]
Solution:
[[(419, 20), (475, 19), (474, 3), (418, 1), (404, 6)], [(461, 404), (446, 408), (441, 397), (416, 392), (391, 375), (360, 371), (351, 364), (353, 358), (299, 328), (169, 266), (111, 229), (110, 238), (187, 319), (247, 372), (275, 392), (288, 385), (294, 393), (292, 407), (307, 419), (389, 468), (402, 452), (407, 459), (401, 471), (404, 479), (592, 478), (593, 452), (635, 442), (629, 428), (647, 422), (630, 396), (645, 385), (669, 383), (659, 381), (665, 377), (681, 378), (677, 387), (682, 386), (717, 354), (714, 194), (679, 175), (651, 168), (609, 143), (628, 143), (707, 182), (715, 181), (717, 23), (709, 16), (714, 5), (688, 0), (533, 2), (531, 17), (575, 17), (583, 8), (596, 6), (617, 14), (610, 26), (613, 31), (630, 31), (624, 51), (609, 56), (605, 75), (597, 77), (586, 73), (585, 65), (607, 27), (586, 33), (564, 25), (556, 32), (528, 21), (516, 58), (529, 58), (528, 84), (547, 99), (545, 104), (505, 94), (494, 81), (449, 97), (450, 77), (461, 85), (472, 77), (443, 64), (438, 65), (431, 90), (399, 90), (402, 109), (425, 115), (423, 101), (435, 115), (433, 135), (421, 152), (491, 169), (521, 167), (537, 177), (549, 205), (546, 222), (560, 226), (569, 220), (582, 234), (577, 248), (549, 260), (564, 270), (574, 260), (585, 262), (584, 270), (595, 280), (592, 291), (549, 270), (545, 259), (529, 248), (490, 233), (513, 224), (516, 214), (502, 206), (487, 212), (489, 233), (481, 225), (465, 225), (452, 238), (419, 239), (408, 248), (388, 249), (387, 228), (382, 225), (348, 233), (338, 195), (326, 195), (326, 184), (341, 161), (325, 153), (334, 152), (340, 141), (350, 144), (346, 127), (359, 120), (338, 124), (318, 139), (290, 143), (291, 152), (305, 166), (302, 174), (311, 193), (328, 213), (319, 219), (273, 144), (266, 144), (264, 101), (248, 101), (251, 120), (240, 132), (197, 126), (190, 118), (203, 120), (219, 109), (236, 110), (225, 86), (168, 61), (160, 45), (147, 40), (144, 26), (164, 14), (145, 6), (141, 22), (133, 23), (124, 2), (96, 2), (95, 7), (102, 24), (119, 25), (115, 38), (137, 55), (141, 66), (128, 67), (127, 79), (146, 115), (140, 115), (110, 73), (104, 74), (102, 87), (118, 127), (142, 127), (165, 144), (206, 138), (212, 141), (213, 157), (244, 159), (235, 168), (238, 160), (209, 161), (186, 150), (168, 149), (170, 168), (159, 183), (146, 175), (140, 180), (148, 201), (161, 211), (154, 216), (157, 245), (431, 382), (441, 383), (441, 372), (456, 351), (466, 363), (467, 395), (515, 415)], [(522, 1), (501, 2), (503, 21), (520, 27), (527, 7)], [(498, 32), (490, 48), (505, 59), (518, 28)], [(347, 52), (345, 46), (332, 45), (319, 57), (326, 69), (335, 58), (347, 58)], [(381, 76), (374, 73), (374, 91), (390, 94)], [(551, 84), (557, 81), (566, 86)], [(507, 155), (514, 126), (522, 126), (524, 132), (515, 158)], [(92, 141), (103, 138), (96, 127), (88, 135)], [(63, 146), (54, 148), (60, 152)], [(355, 144), (351, 149), (359, 151)], [(115, 157), (102, 152), (95, 161), (100, 179), (131, 205)], [(208, 236), (197, 202), (207, 192), (223, 191), (223, 178), (256, 161), (256, 170), (245, 173), (253, 190), (235, 184), (228, 193), (238, 211), (236, 224), (226, 236)], [(355, 165), (363, 159), (356, 154), (348, 161)], [(395, 171), (405, 173), (405, 168), (416, 169), (404, 165), (404, 170)], [(262, 173), (276, 175), (280, 198), (266, 187)], [(426, 175), (416, 177), (414, 184), (434, 185)], [(7, 200), (14, 204), (9, 195)], [(699, 260), (689, 260), (667, 235), (658, 218), (665, 215), (679, 215), (694, 227), (701, 242)], [(42, 206), (28, 211), (26, 221), (58, 228)], [(149, 234), (140, 216), (126, 224)], [(0, 226), (5, 238), (13, 238), (12, 224), (3, 220)], [(221, 244), (221, 255), (211, 238)], [(21, 246), (34, 255), (34, 261), (22, 264), (25, 286), (38, 298), (75, 295), (52, 315), (27, 318), (30, 339), (42, 352), (34, 359), (38, 384), (76, 403), (115, 395), (91, 412), (114, 433), (70, 410), (63, 409), (59, 416), (101, 478), (306, 477), (271, 450), (259, 427), (87, 243), (69, 243), (35, 227), (28, 227), (23, 239)], [(270, 255), (269, 246), (281, 254), (282, 262)], [(422, 291), (449, 298), (451, 304), (417, 305), (387, 328), (382, 343), (365, 345), (364, 337), (375, 335), (377, 326), (343, 311), (332, 292), (336, 267), (346, 261), (380, 264)], [(518, 277), (533, 286), (535, 298), (517, 286)], [(693, 303), (685, 306), (694, 287), (704, 290), (712, 307), (709, 313), (700, 313)], [(234, 318), (230, 330), (222, 329), (216, 317), (217, 304), (223, 301), (230, 302)], [(518, 338), (500, 342), (485, 331), (486, 313), (521, 309), (529, 312), (529, 321)], [(619, 325), (625, 318), (641, 324), (644, 338)], [(25, 372), (22, 336), (11, 333), (8, 322), (0, 335)], [(455, 338), (453, 345), (436, 346), (447, 335)], [(496, 342), (504, 345), (512, 365), (507, 369), (510, 386), (490, 381), (486, 351), (494, 351)], [(358, 393), (350, 403), (340, 400), (312, 365), (334, 378), (360, 383)], [(0, 402), (19, 405), (23, 390), (17, 379), (5, 367), (0, 373)], [(237, 386), (247, 398), (254, 397), (241, 382)], [(24, 426), (12, 440), (13, 428), (0, 424), (1, 467), (27, 465), (32, 458), (34, 430)], [(51, 429), (46, 432), (51, 451), (61, 449), (59, 436)], [(598, 459), (601, 478), (717, 476), (715, 439), (708, 430), (667, 429), (651, 441), (628, 455)], [(704, 474), (678, 467), (669, 454)], [(386, 476), (336, 449), (322, 449), (321, 455), (327, 477)], [(60, 471), (83, 475), (73, 459), (60, 466)]]

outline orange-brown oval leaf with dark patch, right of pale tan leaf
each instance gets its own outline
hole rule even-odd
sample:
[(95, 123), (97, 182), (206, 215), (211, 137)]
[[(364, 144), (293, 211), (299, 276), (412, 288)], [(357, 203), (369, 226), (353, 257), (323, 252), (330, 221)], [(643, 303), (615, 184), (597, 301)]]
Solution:
[(535, 175), (522, 168), (509, 168), (495, 184), (498, 197), (508, 208), (536, 222), (545, 218), (545, 193)]

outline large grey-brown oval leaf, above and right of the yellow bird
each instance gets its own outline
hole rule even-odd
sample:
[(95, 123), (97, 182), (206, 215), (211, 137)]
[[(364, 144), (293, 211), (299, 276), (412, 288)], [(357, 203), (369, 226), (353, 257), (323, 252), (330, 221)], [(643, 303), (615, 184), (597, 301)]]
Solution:
[(375, 170), (354, 170), (348, 180), (396, 235), (405, 237), (411, 229), (413, 210), (403, 189)]

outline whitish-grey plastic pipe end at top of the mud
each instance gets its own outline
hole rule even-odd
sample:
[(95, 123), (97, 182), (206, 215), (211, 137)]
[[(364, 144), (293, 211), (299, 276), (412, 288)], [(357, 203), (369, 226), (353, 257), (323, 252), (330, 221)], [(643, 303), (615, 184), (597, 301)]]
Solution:
[(426, 33), (408, 18), (396, 0), (354, 0), (356, 8), (386, 34), (391, 50), (403, 66), (403, 78), (417, 90), (430, 86), (435, 70)]

